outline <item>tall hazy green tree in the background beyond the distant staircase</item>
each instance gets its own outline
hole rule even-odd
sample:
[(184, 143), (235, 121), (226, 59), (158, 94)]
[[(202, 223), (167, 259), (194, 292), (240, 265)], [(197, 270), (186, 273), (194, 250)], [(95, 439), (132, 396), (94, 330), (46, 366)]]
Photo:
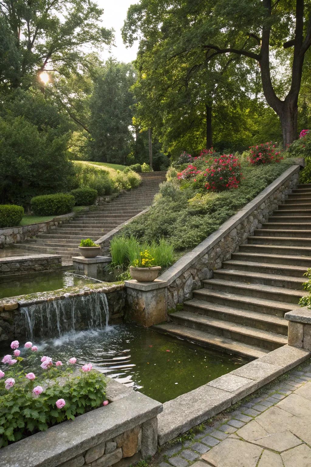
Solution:
[(135, 80), (131, 64), (109, 59), (98, 70), (90, 99), (91, 157), (95, 161), (121, 163), (131, 152), (133, 95)]

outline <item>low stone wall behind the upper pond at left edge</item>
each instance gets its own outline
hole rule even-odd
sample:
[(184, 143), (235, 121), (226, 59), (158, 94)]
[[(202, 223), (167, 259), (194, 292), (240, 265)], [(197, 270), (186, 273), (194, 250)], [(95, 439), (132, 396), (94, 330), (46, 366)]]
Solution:
[(29, 255), (0, 258), (0, 277), (29, 272), (52, 271), (62, 267), (60, 255)]

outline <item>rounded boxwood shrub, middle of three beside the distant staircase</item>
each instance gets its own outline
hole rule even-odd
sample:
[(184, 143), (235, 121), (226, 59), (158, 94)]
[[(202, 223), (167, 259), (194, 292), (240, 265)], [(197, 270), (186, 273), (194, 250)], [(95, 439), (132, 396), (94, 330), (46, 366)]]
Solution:
[(30, 204), (32, 211), (40, 216), (60, 215), (70, 212), (75, 205), (75, 197), (65, 193), (35, 196)]

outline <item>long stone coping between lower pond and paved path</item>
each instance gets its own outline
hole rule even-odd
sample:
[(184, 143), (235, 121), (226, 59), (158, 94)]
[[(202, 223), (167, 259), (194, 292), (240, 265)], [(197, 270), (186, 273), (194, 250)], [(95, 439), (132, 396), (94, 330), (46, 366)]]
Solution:
[(311, 352), (285, 345), (165, 402), (163, 412), (158, 416), (159, 445), (205, 422), (310, 356)]

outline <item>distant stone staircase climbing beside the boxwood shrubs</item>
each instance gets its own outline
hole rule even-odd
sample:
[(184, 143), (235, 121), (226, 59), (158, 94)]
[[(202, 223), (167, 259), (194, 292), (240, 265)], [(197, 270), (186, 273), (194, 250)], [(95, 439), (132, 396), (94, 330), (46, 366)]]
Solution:
[(152, 204), (159, 184), (166, 179), (166, 172), (140, 175), (142, 183), (138, 188), (126, 191), (111, 202), (99, 204), (95, 211), (82, 212), (74, 220), (37, 234), (35, 238), (15, 243), (14, 247), (37, 253), (56, 253), (62, 255), (64, 260), (71, 259), (78, 255), (77, 247), (81, 239), (91, 238), (95, 241)]

